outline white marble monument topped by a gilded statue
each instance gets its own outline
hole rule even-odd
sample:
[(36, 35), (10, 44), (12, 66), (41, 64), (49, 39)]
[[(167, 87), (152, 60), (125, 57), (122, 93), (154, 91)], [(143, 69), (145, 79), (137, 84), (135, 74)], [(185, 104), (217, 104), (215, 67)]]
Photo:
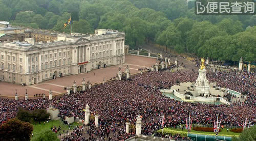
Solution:
[(194, 96), (200, 96), (200, 94), (209, 94), (210, 92), (210, 84), (206, 78), (206, 70), (204, 66), (204, 58), (201, 59), (201, 68), (198, 70), (198, 78), (195, 83), (196, 93)]

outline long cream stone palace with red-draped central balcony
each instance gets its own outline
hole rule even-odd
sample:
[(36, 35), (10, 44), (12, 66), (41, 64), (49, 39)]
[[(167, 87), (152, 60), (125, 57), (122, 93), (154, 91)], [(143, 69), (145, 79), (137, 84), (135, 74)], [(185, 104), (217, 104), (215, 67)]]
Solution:
[(0, 42), (0, 79), (13, 83), (41, 81), (86, 73), (124, 63), (124, 32), (95, 30), (95, 34), (58, 34), (54, 42)]

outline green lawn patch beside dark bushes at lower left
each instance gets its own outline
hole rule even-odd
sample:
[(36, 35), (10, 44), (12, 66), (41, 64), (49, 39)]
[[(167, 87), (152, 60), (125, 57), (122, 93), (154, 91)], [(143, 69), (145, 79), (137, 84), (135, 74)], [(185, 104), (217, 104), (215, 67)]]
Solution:
[[(45, 122), (46, 123), (46, 122)], [(81, 123), (72, 123), (70, 126), (70, 129), (72, 130), (73, 127), (77, 126), (77, 125), (82, 125)], [(68, 130), (69, 126), (63, 124), (63, 122), (61, 120), (57, 120), (57, 121), (49, 121), (48, 123), (44, 124), (44, 122), (40, 123), (40, 124), (33, 124), (33, 137), (31, 137), (31, 140), (33, 140), (38, 133), (40, 133), (43, 130), (51, 130), (51, 127), (56, 126), (57, 128), (60, 126), (61, 127), (61, 133), (63, 133), (63, 130)], [(57, 135), (59, 135), (59, 132), (57, 132)]]

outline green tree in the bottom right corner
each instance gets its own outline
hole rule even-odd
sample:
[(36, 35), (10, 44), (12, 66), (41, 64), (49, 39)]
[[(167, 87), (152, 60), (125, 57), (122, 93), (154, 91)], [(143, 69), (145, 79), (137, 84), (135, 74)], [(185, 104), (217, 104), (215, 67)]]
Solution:
[(250, 141), (256, 140), (256, 126), (252, 126), (249, 129), (244, 130), (239, 137), (232, 137), (232, 141)]

